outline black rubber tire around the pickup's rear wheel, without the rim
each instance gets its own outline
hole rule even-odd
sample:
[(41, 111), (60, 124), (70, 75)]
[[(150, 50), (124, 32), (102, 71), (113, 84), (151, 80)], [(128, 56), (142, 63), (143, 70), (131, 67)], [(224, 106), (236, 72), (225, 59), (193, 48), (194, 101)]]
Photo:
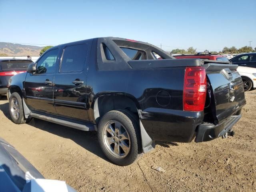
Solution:
[[(106, 144), (104, 144), (104, 127), (110, 121), (117, 121), (124, 126), (130, 140), (130, 150), (123, 158), (117, 158), (109, 152)], [(112, 110), (107, 112), (98, 124), (98, 140), (100, 147), (106, 157), (116, 165), (127, 166), (135, 162), (142, 156), (142, 142), (139, 129), (138, 118), (128, 110)]]

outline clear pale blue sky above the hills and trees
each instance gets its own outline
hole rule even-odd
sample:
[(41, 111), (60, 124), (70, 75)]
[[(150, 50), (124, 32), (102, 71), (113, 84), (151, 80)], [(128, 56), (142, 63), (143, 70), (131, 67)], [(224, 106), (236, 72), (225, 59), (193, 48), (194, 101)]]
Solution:
[(164, 50), (254, 48), (256, 0), (0, 0), (0, 26), (0, 42), (38, 46), (113, 36)]

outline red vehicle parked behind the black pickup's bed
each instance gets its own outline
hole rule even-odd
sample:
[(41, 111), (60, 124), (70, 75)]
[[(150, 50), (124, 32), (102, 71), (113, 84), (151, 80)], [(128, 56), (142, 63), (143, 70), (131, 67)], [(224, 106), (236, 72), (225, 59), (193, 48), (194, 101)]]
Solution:
[(219, 55), (219, 54), (211, 54), (211, 53), (206, 53), (206, 52), (199, 52), (197, 54), (192, 54), (192, 55), (174, 55), (175, 58), (177, 59), (187, 59), (187, 58), (193, 58), (193, 59), (209, 59), (209, 60), (217, 60), (217, 61), (228, 61), (228, 58), (224, 55)]

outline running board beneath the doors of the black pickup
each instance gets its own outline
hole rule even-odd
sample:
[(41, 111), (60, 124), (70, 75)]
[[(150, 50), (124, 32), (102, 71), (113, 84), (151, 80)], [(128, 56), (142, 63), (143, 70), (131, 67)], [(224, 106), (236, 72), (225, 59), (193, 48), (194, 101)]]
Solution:
[[(31, 112), (30, 117), (42, 119), (42, 120), (45, 120), (48, 122), (52, 122), (52, 123), (56, 123), (59, 125), (79, 129), (82, 131), (96, 130), (95, 125), (91, 124), (91, 123), (80, 122), (80, 121), (76, 121), (76, 120), (72, 120), (72, 119), (68, 119), (68, 118), (62, 118), (62, 117), (48, 115), (48, 114), (42, 114), (42, 113), (38, 113), (38, 112)], [(58, 118), (56, 118), (56, 117), (58, 117)]]

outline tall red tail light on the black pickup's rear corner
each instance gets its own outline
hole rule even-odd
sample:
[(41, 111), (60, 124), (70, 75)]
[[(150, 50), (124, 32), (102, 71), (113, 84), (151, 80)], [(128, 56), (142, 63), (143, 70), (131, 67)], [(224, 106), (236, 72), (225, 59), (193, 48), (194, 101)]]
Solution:
[(183, 110), (203, 111), (206, 99), (204, 67), (186, 67), (183, 89)]

